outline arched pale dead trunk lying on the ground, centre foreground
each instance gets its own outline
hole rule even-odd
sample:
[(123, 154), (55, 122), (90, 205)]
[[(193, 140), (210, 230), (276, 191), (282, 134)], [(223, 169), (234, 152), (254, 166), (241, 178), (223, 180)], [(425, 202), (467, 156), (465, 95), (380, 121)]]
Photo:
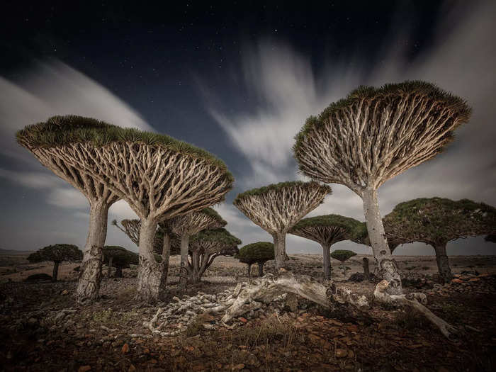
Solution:
[(358, 296), (346, 288), (336, 288), (332, 282), (330, 286), (324, 286), (310, 276), (284, 271), (281, 274), (267, 274), (249, 281), (249, 286), (239, 291), (234, 302), (225, 312), (222, 322), (229, 322), (233, 317), (247, 311), (249, 303), (254, 301), (270, 303), (284, 293), (300, 295), (327, 310), (334, 310), (343, 305), (351, 305), (351, 308), (356, 309), (368, 307), (365, 296)]

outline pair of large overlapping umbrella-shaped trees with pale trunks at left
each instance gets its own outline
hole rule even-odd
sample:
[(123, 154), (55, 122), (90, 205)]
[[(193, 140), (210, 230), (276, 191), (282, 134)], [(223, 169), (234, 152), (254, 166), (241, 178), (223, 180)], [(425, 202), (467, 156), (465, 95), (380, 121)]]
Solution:
[(163, 293), (170, 247), (164, 235), (163, 259), (155, 259), (159, 223), (220, 203), (234, 182), (224, 162), (205, 150), (91, 118), (55, 116), (26, 126), (16, 137), (89, 201), (76, 293), (81, 303), (98, 298), (108, 208), (115, 201), (126, 201), (140, 220), (137, 298), (153, 302)]

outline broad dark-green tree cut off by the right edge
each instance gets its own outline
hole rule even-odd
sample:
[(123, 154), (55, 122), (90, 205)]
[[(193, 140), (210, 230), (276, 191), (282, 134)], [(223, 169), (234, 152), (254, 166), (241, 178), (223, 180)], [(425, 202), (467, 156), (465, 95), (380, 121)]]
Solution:
[(396, 205), (385, 215), (384, 225), (387, 235), (431, 245), (436, 252), (439, 277), (446, 282), (453, 278), (446, 244), (494, 232), (496, 208), (468, 199), (419, 198)]

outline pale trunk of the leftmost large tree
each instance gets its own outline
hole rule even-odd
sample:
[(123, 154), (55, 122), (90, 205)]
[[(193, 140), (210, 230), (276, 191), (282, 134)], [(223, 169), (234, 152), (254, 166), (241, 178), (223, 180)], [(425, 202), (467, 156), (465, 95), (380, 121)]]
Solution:
[(86, 237), (84, 257), (76, 290), (79, 303), (98, 298), (103, 245), (107, 236), (108, 207), (108, 204), (101, 201), (90, 203), (88, 237)]

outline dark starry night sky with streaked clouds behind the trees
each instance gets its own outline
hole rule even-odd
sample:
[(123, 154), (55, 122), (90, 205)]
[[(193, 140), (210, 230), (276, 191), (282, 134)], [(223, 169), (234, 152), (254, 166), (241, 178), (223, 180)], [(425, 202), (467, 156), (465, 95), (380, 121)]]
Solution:
[[(0, 249), (84, 245), (89, 206), (16, 145), (14, 133), (77, 114), (167, 133), (225, 161), (235, 188), (216, 206), (243, 244), (271, 237), (232, 205), (236, 194), (303, 179), (291, 155), (309, 115), (361, 84), (424, 79), (466, 98), (473, 119), (436, 159), (379, 189), (383, 214), (418, 197), (496, 205), (496, 6), (492, 1), (204, 1), (162, 6), (10, 2), (0, 15)], [(346, 187), (310, 215), (363, 220)], [(114, 218), (135, 218), (123, 201)], [(107, 244), (137, 250), (109, 225)], [(351, 242), (335, 249), (370, 249)], [(449, 254), (493, 254), (481, 237)], [(320, 253), (288, 236), (289, 253)], [(395, 254), (433, 254), (405, 244)]]

